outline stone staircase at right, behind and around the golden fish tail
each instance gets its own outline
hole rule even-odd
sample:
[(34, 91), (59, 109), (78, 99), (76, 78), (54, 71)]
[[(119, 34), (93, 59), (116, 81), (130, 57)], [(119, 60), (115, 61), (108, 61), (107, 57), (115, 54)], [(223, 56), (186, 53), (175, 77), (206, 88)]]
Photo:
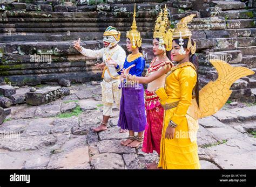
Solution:
[[(226, 22), (225, 30), (217, 30), (215, 35), (211, 33), (207, 37), (217, 42), (213, 51), (231, 54), (230, 64), (244, 66), (256, 72), (255, 1), (249, 1), (248, 4), (239, 1), (212, 1), (208, 4), (212, 14), (217, 10), (216, 16), (223, 17)], [(238, 80), (233, 88), (238, 87), (238, 84), (240, 88), (234, 90), (230, 98), (253, 103), (256, 95), (255, 81), (255, 74)]]

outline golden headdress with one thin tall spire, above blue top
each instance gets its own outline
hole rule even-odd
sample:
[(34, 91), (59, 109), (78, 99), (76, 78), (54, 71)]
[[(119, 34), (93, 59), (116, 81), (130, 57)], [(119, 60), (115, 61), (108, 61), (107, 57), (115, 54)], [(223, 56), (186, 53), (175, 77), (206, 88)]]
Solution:
[(137, 46), (138, 47), (142, 46), (142, 38), (140, 38), (140, 32), (137, 30), (138, 27), (136, 25), (135, 17), (136, 17), (136, 3), (134, 3), (134, 13), (133, 13), (131, 30), (126, 32), (126, 38), (129, 38), (130, 41), (132, 42), (132, 48), (136, 48)]

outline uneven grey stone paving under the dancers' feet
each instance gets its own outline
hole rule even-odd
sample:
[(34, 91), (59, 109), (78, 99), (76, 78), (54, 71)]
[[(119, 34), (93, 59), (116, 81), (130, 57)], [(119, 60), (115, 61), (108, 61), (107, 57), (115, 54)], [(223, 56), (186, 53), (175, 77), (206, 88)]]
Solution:
[[(152, 162), (156, 153), (120, 145), (128, 133), (118, 131), (117, 107), (106, 131), (91, 130), (102, 119), (99, 84), (70, 90), (48, 104), (11, 106), (0, 125), (0, 169), (145, 169)], [(241, 106), (226, 104), (199, 120), (201, 169), (256, 169), (256, 105)], [(76, 116), (62, 116), (70, 111)]]

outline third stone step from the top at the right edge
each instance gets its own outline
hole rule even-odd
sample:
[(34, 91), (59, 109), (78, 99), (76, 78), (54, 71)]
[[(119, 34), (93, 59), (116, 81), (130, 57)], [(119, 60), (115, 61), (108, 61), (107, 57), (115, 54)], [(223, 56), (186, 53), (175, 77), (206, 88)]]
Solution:
[(250, 28), (255, 27), (255, 19), (228, 19), (227, 28)]

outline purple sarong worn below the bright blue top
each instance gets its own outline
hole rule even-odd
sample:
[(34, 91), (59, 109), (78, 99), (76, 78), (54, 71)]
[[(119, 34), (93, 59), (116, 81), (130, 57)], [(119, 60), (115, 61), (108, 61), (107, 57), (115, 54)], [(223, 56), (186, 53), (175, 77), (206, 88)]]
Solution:
[[(120, 84), (122, 85), (122, 83)], [(119, 86), (120, 87), (120, 86)], [(132, 88), (122, 86), (120, 112), (117, 126), (123, 130), (141, 132), (145, 130), (146, 114), (142, 84)]]

